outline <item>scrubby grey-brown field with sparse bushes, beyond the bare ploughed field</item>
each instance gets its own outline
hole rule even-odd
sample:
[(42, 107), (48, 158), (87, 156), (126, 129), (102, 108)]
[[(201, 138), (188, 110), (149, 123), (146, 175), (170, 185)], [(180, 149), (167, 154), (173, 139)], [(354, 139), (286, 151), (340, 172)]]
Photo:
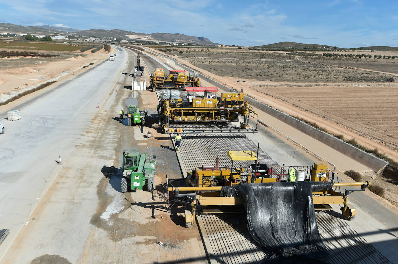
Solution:
[[(279, 52), (246, 50), (200, 50), (176, 52), (178, 57), (193, 65), (211, 71), (220, 76), (239, 79), (256, 79), (259, 81), (283, 82), (387, 82), (391, 76), (384, 73), (365, 71), (362, 69), (346, 69), (332, 64), (349, 65), (359, 68), (377, 69), (398, 73), (398, 60), (378, 59), (341, 59), (334, 60), (324, 57), (302, 58)], [(309, 60), (309, 61), (306, 61)], [(311, 61), (314, 60), (314, 61)], [(358, 65), (356, 65), (358, 64)]]

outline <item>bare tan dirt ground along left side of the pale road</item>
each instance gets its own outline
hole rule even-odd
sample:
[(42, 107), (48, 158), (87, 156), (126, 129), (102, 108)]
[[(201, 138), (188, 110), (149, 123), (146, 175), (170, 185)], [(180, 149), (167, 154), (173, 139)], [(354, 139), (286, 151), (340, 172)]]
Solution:
[(96, 53), (58, 52), (60, 57), (54, 58), (3, 58), (0, 60), (0, 94), (25, 89), (57, 77), (62, 71), (72, 71), (91, 62), (100, 63), (109, 58), (109, 53), (101, 49)]

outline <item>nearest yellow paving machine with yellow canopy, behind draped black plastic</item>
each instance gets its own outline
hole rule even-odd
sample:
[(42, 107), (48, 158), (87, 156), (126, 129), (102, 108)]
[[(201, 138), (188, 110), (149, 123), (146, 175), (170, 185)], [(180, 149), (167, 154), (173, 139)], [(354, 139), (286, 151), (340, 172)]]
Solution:
[[(237, 212), (236, 208), (242, 205), (239, 197), (223, 197), (220, 195), (222, 186), (240, 184), (275, 183), (284, 184), (282, 180), (285, 174), (283, 167), (268, 168), (267, 164), (259, 164), (254, 151), (228, 151), (231, 167), (219, 167), (216, 165), (203, 165), (187, 172), (187, 187), (168, 187), (168, 200), (170, 192), (182, 204), (187, 205), (185, 214), (185, 227), (190, 227), (195, 221), (196, 214), (216, 214)], [(234, 162), (246, 161), (249, 164), (244, 167), (234, 168)], [(251, 163), (252, 162), (252, 163)], [(293, 170), (293, 171), (292, 171)], [(332, 189), (325, 189), (312, 193), (315, 210), (330, 210), (329, 204), (342, 204), (341, 212), (346, 220), (353, 220), (357, 214), (356, 209), (348, 204), (348, 195), (353, 191), (365, 191), (369, 182), (338, 183), (334, 179), (335, 173), (328, 170), (326, 164), (315, 163), (313, 166), (288, 167), (289, 172), (294, 172), (296, 181), (323, 181), (334, 183)], [(168, 181), (166, 181), (168, 185)], [(345, 193), (337, 191), (340, 187), (360, 186), (360, 189), (346, 189)], [(189, 201), (187, 201), (189, 199)], [(170, 205), (170, 204), (169, 204)], [(189, 210), (189, 208), (191, 208)]]

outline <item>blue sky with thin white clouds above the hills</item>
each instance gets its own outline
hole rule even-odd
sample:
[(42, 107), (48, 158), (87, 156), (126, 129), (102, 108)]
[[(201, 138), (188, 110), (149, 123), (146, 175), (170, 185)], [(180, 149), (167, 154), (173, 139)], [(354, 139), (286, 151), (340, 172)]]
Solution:
[(0, 23), (181, 33), (242, 46), (398, 46), (397, 0), (0, 0)]

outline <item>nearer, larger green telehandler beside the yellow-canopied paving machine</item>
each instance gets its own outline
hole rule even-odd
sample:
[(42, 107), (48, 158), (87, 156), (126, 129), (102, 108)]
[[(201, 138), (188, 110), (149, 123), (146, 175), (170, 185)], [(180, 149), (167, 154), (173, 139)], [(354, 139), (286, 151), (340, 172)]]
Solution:
[(131, 190), (142, 190), (143, 186), (148, 191), (155, 189), (154, 177), (156, 175), (156, 156), (147, 158), (146, 153), (138, 150), (123, 151), (123, 176), (121, 178), (122, 193)]

